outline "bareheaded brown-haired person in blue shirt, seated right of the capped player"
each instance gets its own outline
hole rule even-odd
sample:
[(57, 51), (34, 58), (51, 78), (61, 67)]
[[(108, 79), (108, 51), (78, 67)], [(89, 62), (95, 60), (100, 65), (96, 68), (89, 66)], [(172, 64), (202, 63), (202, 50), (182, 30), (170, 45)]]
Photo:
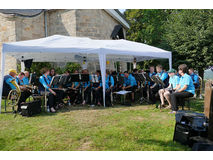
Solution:
[(187, 74), (187, 65), (179, 65), (178, 73), (181, 75), (181, 78), (175, 92), (171, 94), (172, 111), (170, 113), (176, 113), (176, 111), (178, 110), (178, 104), (184, 102), (184, 98), (193, 97), (193, 95), (195, 94), (193, 81)]

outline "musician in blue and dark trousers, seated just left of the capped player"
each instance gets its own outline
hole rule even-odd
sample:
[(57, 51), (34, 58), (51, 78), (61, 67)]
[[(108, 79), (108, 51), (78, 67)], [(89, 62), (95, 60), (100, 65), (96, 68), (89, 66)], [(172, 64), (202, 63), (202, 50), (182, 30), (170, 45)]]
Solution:
[[(157, 74), (156, 76), (158, 76), (165, 84), (165, 87), (168, 86), (168, 82), (169, 82), (169, 76), (167, 72), (164, 72), (162, 65), (157, 65), (156, 66), (156, 71)], [(163, 86), (154, 84), (150, 87), (151, 91), (150, 91), (150, 100), (152, 101), (152, 103), (154, 104), (156, 102), (156, 97), (158, 96), (158, 91), (159, 89), (163, 88)]]

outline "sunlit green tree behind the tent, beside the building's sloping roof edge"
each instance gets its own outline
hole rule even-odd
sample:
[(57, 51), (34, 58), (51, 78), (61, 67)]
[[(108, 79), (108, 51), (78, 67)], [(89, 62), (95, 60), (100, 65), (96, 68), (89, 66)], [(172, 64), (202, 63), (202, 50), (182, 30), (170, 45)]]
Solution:
[[(166, 23), (171, 10), (166, 9), (128, 9), (124, 12), (126, 19), (130, 22), (130, 29), (127, 31), (127, 39), (169, 50), (163, 35)], [(138, 63), (141, 68), (148, 65), (165, 64), (165, 60), (150, 60)]]

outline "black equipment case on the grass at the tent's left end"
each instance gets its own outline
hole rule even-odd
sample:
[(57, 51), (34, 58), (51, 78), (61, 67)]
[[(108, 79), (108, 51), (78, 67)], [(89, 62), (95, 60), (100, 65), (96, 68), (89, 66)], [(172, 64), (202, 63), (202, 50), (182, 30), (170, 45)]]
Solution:
[(41, 100), (21, 104), (21, 115), (31, 117), (41, 113)]

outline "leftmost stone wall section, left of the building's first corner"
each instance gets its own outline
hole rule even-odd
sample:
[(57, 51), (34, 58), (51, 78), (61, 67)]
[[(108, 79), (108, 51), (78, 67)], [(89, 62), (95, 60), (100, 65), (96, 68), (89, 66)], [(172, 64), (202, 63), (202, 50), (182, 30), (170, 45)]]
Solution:
[[(16, 41), (15, 19), (13, 16), (0, 13), (0, 66), (1, 66), (2, 43), (13, 41)], [(5, 73), (7, 74), (9, 69), (11, 68), (16, 69), (17, 63), (16, 59), (13, 57), (6, 56), (5, 58), (6, 58)]]

